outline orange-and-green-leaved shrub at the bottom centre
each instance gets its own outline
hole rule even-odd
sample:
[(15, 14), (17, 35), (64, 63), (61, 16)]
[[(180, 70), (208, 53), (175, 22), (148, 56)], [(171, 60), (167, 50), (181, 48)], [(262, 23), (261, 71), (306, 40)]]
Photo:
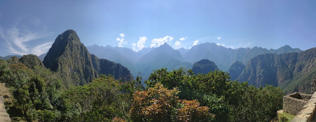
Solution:
[(177, 88), (168, 90), (158, 83), (145, 91), (136, 91), (130, 114), (135, 122), (197, 122), (212, 121), (208, 107), (197, 100), (178, 100)]

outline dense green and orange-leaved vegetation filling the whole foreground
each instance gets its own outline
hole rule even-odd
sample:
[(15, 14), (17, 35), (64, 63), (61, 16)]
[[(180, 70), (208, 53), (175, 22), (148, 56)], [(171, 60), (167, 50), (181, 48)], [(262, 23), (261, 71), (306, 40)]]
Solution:
[(0, 68), (0, 80), (13, 97), (6, 107), (14, 121), (270, 121), (282, 109), (284, 95), (279, 87), (229, 81), (228, 73), (217, 70), (197, 76), (182, 68), (155, 70), (147, 88), (136, 85), (141, 76), (122, 82), (100, 75), (63, 90), (59, 75), (46, 68), (3, 60)]

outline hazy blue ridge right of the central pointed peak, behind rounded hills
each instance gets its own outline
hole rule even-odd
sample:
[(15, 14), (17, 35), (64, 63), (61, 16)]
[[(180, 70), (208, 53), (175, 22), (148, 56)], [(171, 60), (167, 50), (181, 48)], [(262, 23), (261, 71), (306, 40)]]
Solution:
[(260, 54), (265, 53), (288, 53), (288, 52), (301, 52), (298, 48), (291, 48), (286, 45), (280, 47), (279, 49), (266, 49), (261, 47), (250, 48), (238, 48), (236, 50), (231, 48), (225, 48), (223, 46), (218, 46), (215, 43), (201, 43), (193, 46), (190, 50), (184, 53), (183, 58), (185, 61), (194, 63), (201, 59), (209, 59), (213, 61), (220, 70), (227, 71), (230, 65), (236, 61), (241, 61), (243, 64), (247, 64), (249, 60)]

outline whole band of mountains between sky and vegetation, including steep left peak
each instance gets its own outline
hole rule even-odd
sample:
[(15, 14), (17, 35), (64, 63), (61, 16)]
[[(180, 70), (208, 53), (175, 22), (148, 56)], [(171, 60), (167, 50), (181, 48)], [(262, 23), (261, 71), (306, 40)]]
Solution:
[[(22, 59), (10, 57), (4, 59), (12, 63), (38, 60), (33, 55)], [(182, 67), (192, 69), (196, 74), (223, 70), (230, 74), (231, 80), (248, 81), (257, 87), (264, 84), (280, 86), (286, 93), (310, 92), (309, 83), (316, 75), (315, 57), (316, 48), (301, 51), (288, 45), (276, 50), (261, 47), (231, 49), (206, 42), (191, 49), (174, 50), (165, 43), (138, 52), (126, 47), (85, 47), (73, 30), (58, 35), (51, 49), (39, 56), (46, 68), (60, 74), (66, 87), (91, 82), (99, 74), (111, 74), (123, 80), (140, 75), (147, 80), (153, 70), (167, 68), (170, 71)], [(36, 62), (30, 65), (41, 65)]]

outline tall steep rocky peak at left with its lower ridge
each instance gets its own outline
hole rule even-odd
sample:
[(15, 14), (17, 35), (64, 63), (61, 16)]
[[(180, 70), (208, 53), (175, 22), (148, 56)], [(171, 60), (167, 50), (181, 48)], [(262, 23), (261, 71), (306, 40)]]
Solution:
[[(94, 58), (92, 60), (92, 57)], [(87, 48), (80, 42), (74, 30), (66, 30), (64, 33), (58, 35), (52, 47), (47, 52), (43, 60), (46, 68), (59, 73), (62, 84), (69, 88), (70, 86), (83, 85), (91, 82), (95, 77), (98, 77), (102, 68), (118, 67), (113, 62), (104, 62), (102, 59), (92, 56)], [(103, 64), (98, 64), (98, 63)], [(109, 64), (107, 64), (109, 63)], [(94, 67), (100, 67), (94, 69)], [(119, 66), (123, 67), (123, 66)], [(104, 70), (104, 69), (102, 69)], [(122, 72), (130, 72), (128, 69), (121, 69), (119, 71), (104, 72), (114, 75), (115, 77), (124, 76)], [(125, 76), (124, 76), (125, 77)]]

